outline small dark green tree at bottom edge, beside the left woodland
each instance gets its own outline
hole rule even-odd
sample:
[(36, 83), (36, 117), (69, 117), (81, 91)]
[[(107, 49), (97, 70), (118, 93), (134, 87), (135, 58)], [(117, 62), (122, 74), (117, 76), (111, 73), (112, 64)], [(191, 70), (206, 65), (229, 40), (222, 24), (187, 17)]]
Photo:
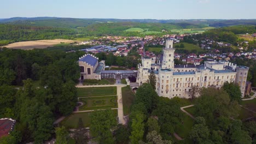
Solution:
[(56, 143), (67, 144), (68, 143), (68, 131), (64, 126), (55, 128)]

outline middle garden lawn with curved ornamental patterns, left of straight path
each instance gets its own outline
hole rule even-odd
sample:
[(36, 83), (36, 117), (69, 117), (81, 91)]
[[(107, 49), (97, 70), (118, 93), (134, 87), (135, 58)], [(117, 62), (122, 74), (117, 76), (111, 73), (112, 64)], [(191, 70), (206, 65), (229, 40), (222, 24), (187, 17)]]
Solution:
[(79, 111), (110, 109), (117, 107), (117, 95), (107, 97), (79, 98), (79, 101), (84, 103), (79, 107)]

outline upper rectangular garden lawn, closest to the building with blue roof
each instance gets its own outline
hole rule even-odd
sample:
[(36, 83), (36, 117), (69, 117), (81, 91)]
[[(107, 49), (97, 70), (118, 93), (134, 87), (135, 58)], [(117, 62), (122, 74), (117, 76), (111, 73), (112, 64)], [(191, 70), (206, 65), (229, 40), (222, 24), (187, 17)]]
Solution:
[(90, 87), (90, 88), (78, 88), (78, 97), (92, 97), (102, 95), (116, 95), (117, 87)]

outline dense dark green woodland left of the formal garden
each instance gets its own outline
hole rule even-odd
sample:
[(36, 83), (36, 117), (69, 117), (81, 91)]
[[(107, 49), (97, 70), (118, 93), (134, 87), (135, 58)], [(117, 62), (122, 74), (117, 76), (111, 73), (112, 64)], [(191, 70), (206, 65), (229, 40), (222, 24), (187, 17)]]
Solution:
[(77, 103), (77, 59), (83, 54), (1, 49), (0, 117), (16, 119), (11, 143), (42, 143), (53, 136), (55, 119)]

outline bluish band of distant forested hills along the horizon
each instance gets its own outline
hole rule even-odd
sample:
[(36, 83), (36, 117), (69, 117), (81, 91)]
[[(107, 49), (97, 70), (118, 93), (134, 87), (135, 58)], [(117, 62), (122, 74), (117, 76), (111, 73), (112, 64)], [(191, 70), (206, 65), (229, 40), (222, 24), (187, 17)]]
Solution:
[[(256, 25), (256, 20), (154, 20), (154, 19), (76, 19), (62, 17), (11, 17), (0, 19), (0, 23), (13, 25), (33, 25), (77, 28), (87, 27), (95, 23), (109, 22), (138, 22), (138, 23), (185, 23), (185, 25), (205, 25), (211, 27), (225, 27), (234, 25)], [(184, 26), (181, 25), (183, 28)]]

